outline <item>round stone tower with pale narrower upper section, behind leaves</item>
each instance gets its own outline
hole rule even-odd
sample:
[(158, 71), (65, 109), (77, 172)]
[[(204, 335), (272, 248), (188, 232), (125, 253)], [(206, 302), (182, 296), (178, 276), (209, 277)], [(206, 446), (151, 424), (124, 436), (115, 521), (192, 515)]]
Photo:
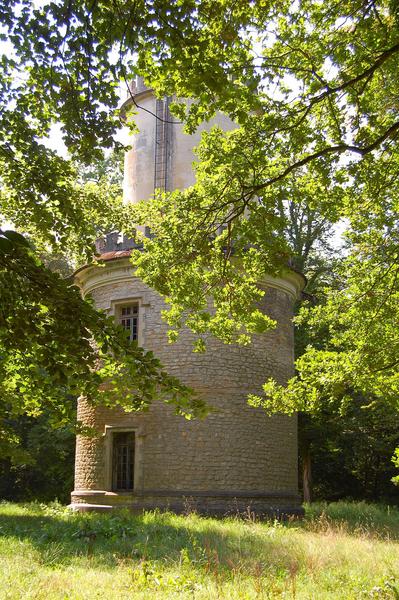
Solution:
[[(126, 155), (124, 194), (135, 202), (150, 197), (154, 188), (193, 183), (199, 134), (184, 135), (180, 126), (165, 122), (170, 120), (167, 101), (156, 100), (140, 81), (132, 91), (142, 108), (140, 133)], [(231, 127), (226, 117), (218, 116), (217, 122)], [(98, 436), (78, 436), (72, 506), (299, 513), (296, 418), (267, 417), (246, 398), (259, 393), (268, 377), (284, 383), (293, 374), (291, 319), (302, 277), (294, 272), (280, 279), (265, 276), (263, 310), (276, 319), (275, 330), (255, 336), (247, 347), (212, 340), (206, 353), (195, 354), (189, 331), (168, 344), (163, 299), (135, 277), (129, 247), (129, 240), (108, 236), (101, 248), (105, 266), (87, 265), (76, 273), (82, 293), (115, 315), (131, 339), (154, 351), (170, 374), (217, 410), (204, 420), (187, 421), (162, 402), (146, 413), (127, 414), (80, 401), (78, 418)]]

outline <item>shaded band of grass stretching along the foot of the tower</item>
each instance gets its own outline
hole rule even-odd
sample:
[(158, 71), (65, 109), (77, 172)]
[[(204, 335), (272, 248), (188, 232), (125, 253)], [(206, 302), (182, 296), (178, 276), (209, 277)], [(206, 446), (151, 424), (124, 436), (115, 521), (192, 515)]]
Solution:
[(261, 557), (273, 569), (287, 571), (293, 561), (301, 561), (301, 550), (287, 530), (324, 533), (334, 528), (337, 533), (399, 539), (399, 512), (363, 503), (317, 504), (307, 507), (302, 521), (253, 523), (195, 514), (72, 513), (39, 504), (0, 504), (0, 538), (27, 542), (41, 564), (54, 567), (82, 557), (92, 566), (129, 560), (162, 561), (166, 566), (187, 556), (206, 571), (215, 565), (232, 570), (256, 568)]

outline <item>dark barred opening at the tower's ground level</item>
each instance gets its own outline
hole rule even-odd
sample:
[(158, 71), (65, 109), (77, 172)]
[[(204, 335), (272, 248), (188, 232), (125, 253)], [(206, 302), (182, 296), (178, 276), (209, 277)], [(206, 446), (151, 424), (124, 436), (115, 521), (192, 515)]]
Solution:
[(112, 490), (134, 488), (134, 432), (114, 433), (112, 440)]

